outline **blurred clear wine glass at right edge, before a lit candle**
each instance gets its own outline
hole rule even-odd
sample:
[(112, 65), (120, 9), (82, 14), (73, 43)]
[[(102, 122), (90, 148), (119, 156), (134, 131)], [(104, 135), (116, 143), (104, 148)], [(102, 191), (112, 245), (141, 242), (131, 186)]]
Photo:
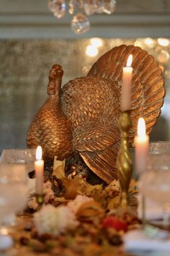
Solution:
[(170, 154), (149, 153), (146, 172), (140, 176), (138, 184), (145, 197), (158, 202), (163, 209), (163, 226), (170, 224)]

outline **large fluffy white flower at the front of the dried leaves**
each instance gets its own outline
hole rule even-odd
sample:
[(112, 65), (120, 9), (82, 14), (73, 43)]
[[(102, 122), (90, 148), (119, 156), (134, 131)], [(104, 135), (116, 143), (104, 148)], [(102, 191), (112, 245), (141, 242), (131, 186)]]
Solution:
[(74, 229), (79, 222), (73, 212), (67, 206), (45, 205), (40, 211), (34, 214), (35, 226), (38, 234), (61, 234), (67, 229)]

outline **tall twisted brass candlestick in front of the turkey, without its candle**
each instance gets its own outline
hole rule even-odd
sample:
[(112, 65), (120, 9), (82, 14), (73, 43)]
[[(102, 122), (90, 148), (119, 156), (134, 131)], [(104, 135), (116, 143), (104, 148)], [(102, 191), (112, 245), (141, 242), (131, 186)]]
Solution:
[(133, 174), (133, 162), (128, 145), (128, 132), (132, 126), (129, 110), (120, 111), (119, 124), (121, 129), (121, 145), (117, 156), (117, 172), (121, 189), (120, 208), (128, 209), (130, 206), (128, 189)]

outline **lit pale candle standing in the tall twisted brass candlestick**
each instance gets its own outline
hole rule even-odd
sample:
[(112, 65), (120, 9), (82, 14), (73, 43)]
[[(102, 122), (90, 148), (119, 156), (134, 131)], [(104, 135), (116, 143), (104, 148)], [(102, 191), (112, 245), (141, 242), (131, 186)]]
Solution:
[(122, 69), (122, 93), (121, 93), (121, 111), (126, 111), (130, 109), (130, 99), (131, 99), (131, 85), (133, 78), (133, 67), (131, 64), (133, 62), (133, 55), (128, 56), (128, 61), (126, 67)]

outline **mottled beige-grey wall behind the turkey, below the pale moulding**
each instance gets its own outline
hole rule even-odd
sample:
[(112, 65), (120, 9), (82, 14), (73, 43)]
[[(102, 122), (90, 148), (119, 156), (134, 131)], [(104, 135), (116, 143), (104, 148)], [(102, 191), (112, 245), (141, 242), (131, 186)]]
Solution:
[[(50, 67), (61, 64), (63, 84), (86, 75), (91, 64), (110, 48), (122, 43), (137, 44), (156, 60), (162, 51), (170, 54), (170, 46), (148, 46), (145, 39), (103, 39), (95, 57), (86, 56), (89, 39), (81, 40), (0, 40), (0, 150), (25, 146), (27, 129), (38, 108), (45, 101)], [(169, 40), (170, 43), (170, 40)], [(163, 54), (164, 57), (164, 54)], [(164, 60), (164, 59), (163, 59)], [(152, 140), (170, 140), (170, 65), (160, 63), (166, 77), (163, 113), (151, 136)]]

